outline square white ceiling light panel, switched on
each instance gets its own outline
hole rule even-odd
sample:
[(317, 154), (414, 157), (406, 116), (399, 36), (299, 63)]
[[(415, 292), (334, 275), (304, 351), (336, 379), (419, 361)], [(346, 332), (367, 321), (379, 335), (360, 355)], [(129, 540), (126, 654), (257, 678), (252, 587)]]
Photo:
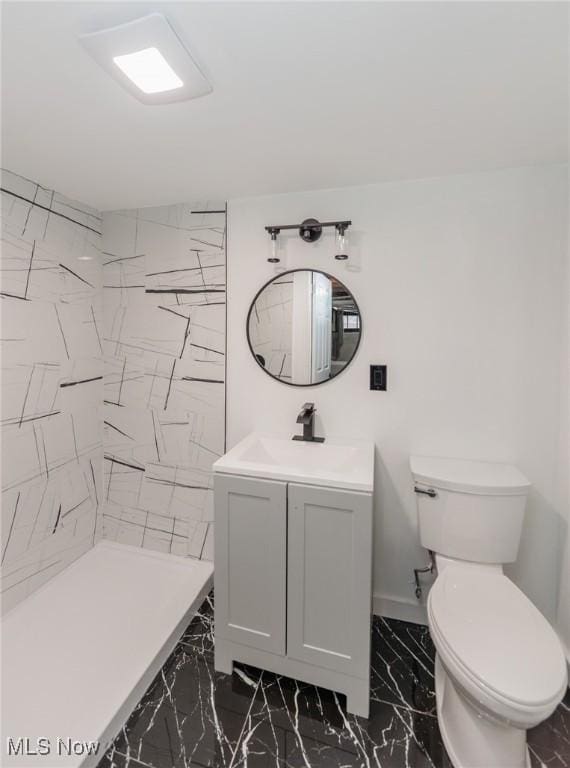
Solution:
[(145, 104), (195, 99), (212, 91), (160, 13), (79, 39), (103, 69)]

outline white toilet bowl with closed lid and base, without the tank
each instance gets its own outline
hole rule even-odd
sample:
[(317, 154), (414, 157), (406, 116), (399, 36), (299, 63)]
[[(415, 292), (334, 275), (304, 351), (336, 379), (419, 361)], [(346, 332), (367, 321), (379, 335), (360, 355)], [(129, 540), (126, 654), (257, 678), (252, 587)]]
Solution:
[[(436, 556), (437, 561), (437, 556)], [(554, 630), (493, 566), (446, 564), (428, 598), (440, 730), (457, 768), (526, 768), (526, 730), (564, 696)]]

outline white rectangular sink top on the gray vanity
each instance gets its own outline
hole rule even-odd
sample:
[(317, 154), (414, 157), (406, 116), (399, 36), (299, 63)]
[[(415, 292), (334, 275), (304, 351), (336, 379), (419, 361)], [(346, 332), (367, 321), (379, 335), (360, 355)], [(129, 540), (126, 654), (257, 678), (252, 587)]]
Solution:
[(215, 462), (214, 472), (371, 492), (374, 444), (334, 438), (305, 443), (253, 432)]

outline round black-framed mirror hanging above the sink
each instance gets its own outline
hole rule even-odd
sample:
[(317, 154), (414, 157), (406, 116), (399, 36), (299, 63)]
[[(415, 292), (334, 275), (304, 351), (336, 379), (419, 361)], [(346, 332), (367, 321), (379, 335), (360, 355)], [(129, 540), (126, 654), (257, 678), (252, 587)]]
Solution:
[(247, 316), (247, 340), (258, 364), (298, 387), (337, 376), (356, 354), (361, 333), (354, 296), (336, 277), (314, 269), (274, 277)]

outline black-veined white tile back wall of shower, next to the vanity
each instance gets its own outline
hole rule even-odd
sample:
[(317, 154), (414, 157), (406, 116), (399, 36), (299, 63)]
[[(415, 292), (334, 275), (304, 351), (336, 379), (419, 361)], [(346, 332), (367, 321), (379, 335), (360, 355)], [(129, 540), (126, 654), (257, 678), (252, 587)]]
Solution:
[(104, 507), (98, 535), (213, 558), (225, 450), (226, 213), (103, 216)]

